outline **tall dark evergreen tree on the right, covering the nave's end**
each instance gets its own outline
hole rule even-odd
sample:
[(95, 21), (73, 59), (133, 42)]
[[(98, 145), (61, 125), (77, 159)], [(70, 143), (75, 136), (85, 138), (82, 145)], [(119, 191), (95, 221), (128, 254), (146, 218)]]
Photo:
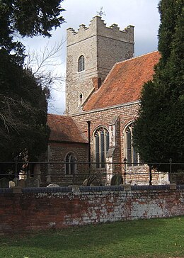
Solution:
[[(184, 1), (161, 0), (159, 12), (161, 59), (153, 81), (142, 89), (134, 146), (145, 163), (184, 162)], [(155, 167), (168, 171), (165, 165)]]

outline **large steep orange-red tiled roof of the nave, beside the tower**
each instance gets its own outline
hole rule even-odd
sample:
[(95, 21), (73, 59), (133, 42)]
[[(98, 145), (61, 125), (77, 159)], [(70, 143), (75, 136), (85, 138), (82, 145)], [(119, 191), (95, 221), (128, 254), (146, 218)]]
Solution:
[(153, 78), (160, 57), (156, 51), (115, 64), (100, 89), (85, 103), (84, 111), (139, 100), (142, 85)]

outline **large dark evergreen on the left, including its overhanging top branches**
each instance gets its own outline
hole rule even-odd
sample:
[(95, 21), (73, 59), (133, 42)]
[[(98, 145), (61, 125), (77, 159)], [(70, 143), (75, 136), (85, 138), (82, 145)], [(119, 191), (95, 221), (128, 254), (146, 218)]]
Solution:
[[(60, 26), (61, 0), (0, 2), (0, 160), (23, 150), (35, 160), (47, 147), (47, 87), (24, 68), (24, 46), (16, 36), (51, 36)], [(27, 152), (26, 152), (27, 153)]]

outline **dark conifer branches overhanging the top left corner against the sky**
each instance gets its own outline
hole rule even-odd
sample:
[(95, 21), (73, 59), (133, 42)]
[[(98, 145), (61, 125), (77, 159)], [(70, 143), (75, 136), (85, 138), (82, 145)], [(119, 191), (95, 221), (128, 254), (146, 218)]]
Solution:
[(64, 22), (62, 0), (1, 0), (0, 45), (13, 48), (13, 35), (51, 36), (52, 28)]

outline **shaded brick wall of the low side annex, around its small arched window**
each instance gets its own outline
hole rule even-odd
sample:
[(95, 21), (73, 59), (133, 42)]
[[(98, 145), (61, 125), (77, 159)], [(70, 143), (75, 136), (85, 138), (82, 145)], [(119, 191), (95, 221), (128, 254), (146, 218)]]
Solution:
[[(66, 174), (65, 159), (69, 152), (76, 158), (75, 174)], [(35, 172), (35, 178), (40, 179), (40, 186), (58, 184), (68, 186), (82, 184), (88, 177), (88, 144), (79, 142), (49, 142), (47, 155), (42, 158), (40, 173)], [(39, 175), (38, 175), (39, 174)]]

